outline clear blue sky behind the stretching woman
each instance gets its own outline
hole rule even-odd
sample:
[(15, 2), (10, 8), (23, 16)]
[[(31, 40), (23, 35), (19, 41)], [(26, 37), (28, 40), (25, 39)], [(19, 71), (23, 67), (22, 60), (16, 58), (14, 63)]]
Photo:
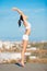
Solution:
[(47, 40), (47, 0), (0, 0), (0, 39), (22, 40), (24, 26), (19, 28), (19, 13), (13, 7), (20, 8), (32, 25), (30, 40)]

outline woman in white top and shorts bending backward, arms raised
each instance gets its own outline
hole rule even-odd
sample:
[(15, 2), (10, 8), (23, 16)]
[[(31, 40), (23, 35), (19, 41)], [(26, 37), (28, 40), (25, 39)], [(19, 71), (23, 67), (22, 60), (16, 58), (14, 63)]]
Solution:
[(17, 11), (20, 14), (20, 20), (19, 20), (19, 26), (21, 26), (21, 22), (23, 22), (23, 25), (25, 26), (25, 33), (23, 35), (23, 49), (21, 52), (21, 66), (24, 67), (24, 54), (26, 51), (27, 43), (28, 43), (28, 35), (31, 34), (31, 24), (27, 22), (27, 16), (17, 8), (13, 8), (13, 11)]

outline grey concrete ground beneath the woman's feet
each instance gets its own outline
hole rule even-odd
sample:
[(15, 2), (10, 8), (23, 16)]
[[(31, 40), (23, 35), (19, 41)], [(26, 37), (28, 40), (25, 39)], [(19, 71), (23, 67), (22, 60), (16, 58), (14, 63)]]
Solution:
[(26, 63), (24, 68), (16, 64), (0, 64), (0, 71), (47, 71), (47, 63)]

